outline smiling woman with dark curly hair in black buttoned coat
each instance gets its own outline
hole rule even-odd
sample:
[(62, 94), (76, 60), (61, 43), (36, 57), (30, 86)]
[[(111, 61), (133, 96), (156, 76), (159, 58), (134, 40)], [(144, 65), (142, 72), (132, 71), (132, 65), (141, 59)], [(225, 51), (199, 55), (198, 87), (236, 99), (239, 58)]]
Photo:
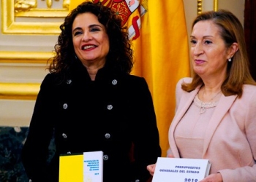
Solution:
[[(37, 96), (22, 159), (32, 182), (59, 181), (59, 157), (103, 151), (103, 181), (147, 181), (161, 156), (146, 80), (130, 75), (127, 30), (115, 12), (84, 2), (67, 15)], [(48, 164), (48, 146), (56, 153)]]

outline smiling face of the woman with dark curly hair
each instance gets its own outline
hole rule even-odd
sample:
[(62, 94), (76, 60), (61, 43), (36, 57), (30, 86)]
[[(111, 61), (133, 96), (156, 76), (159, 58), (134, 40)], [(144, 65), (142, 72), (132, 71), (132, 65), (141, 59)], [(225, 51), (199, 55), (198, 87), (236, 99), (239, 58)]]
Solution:
[(110, 50), (105, 26), (96, 15), (85, 12), (72, 24), (72, 41), (75, 54), (85, 66), (104, 65)]

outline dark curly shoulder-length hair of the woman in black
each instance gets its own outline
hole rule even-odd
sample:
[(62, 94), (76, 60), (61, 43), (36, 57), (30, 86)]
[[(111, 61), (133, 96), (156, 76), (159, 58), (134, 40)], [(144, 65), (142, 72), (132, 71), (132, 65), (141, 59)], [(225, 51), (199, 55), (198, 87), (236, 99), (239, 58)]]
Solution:
[(72, 23), (79, 14), (91, 12), (98, 17), (99, 23), (105, 26), (110, 41), (105, 65), (130, 73), (133, 67), (133, 51), (129, 41), (127, 27), (122, 27), (121, 18), (110, 7), (101, 2), (83, 2), (65, 17), (60, 25), (61, 33), (54, 49), (56, 55), (50, 58), (48, 70), (50, 73), (65, 74), (75, 59), (75, 50), (72, 42)]

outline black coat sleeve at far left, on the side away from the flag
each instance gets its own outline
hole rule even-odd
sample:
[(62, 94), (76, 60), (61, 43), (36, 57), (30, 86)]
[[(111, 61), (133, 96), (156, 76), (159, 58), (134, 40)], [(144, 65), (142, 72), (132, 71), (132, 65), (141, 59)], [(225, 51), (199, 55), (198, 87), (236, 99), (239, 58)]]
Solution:
[(53, 135), (51, 118), (52, 100), (50, 95), (50, 74), (45, 76), (29, 125), (29, 133), (23, 146), (21, 159), (26, 173), (31, 181), (48, 181), (47, 159), (48, 146)]

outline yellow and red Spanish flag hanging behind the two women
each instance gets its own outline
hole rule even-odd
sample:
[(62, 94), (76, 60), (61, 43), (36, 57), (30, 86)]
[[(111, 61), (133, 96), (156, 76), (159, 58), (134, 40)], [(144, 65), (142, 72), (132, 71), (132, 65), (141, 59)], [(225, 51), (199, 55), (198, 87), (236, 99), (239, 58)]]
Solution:
[[(69, 11), (84, 0), (70, 0)], [(189, 45), (183, 0), (102, 1), (118, 12), (135, 52), (132, 74), (148, 82), (157, 115), (162, 157), (169, 147), (168, 130), (175, 113), (178, 79), (190, 76)]]

